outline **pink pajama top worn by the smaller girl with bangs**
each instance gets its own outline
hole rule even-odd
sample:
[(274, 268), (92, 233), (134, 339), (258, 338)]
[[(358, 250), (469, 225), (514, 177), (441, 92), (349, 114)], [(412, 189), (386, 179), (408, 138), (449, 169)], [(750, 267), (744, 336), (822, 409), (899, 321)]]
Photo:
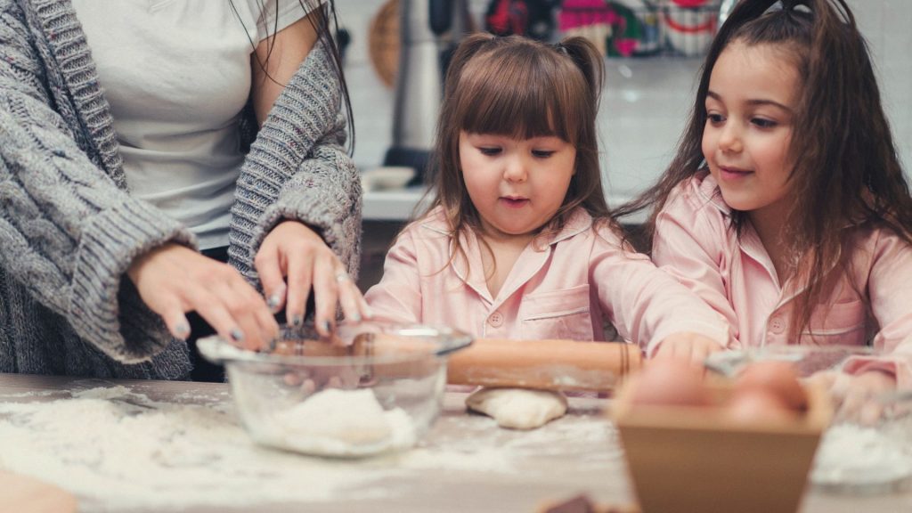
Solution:
[(380, 282), (366, 298), (377, 319), (442, 324), (479, 338), (605, 340), (611, 322), (625, 340), (649, 351), (668, 335), (691, 331), (730, 337), (718, 313), (648, 257), (622, 248), (608, 227), (583, 209), (547, 241), (533, 241), (492, 297), (482, 249), (461, 238), (452, 257), (440, 209), (408, 225), (387, 255)]

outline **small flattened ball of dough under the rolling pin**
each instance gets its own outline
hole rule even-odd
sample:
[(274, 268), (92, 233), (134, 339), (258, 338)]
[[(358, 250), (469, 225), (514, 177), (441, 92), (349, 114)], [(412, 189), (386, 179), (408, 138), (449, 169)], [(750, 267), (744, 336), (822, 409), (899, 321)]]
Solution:
[(465, 405), (511, 429), (534, 429), (567, 413), (563, 393), (525, 388), (483, 388), (467, 397)]

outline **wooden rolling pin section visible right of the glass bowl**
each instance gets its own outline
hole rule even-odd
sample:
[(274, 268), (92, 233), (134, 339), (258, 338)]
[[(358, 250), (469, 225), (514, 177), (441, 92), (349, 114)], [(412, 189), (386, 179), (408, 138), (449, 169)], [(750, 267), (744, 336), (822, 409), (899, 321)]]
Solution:
[(447, 382), (608, 392), (642, 362), (634, 344), (476, 339), (450, 356)]

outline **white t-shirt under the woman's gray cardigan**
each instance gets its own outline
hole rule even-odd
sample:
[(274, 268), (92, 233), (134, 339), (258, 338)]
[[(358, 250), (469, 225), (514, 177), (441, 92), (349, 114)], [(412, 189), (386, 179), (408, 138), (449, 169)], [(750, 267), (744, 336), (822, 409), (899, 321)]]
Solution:
[(305, 9), (298, 0), (73, 5), (111, 106), (130, 192), (187, 225), (202, 249), (227, 246), (251, 53)]

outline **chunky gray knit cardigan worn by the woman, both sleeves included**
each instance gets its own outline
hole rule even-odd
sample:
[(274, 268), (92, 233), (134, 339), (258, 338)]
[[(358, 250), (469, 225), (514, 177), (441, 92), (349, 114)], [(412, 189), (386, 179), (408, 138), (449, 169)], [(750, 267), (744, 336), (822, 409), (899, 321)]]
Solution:
[[(320, 231), (357, 273), (358, 172), (340, 88), (316, 47), (276, 99), (237, 183), (230, 262), (279, 221)], [(0, 0), (0, 372), (181, 378), (187, 346), (125, 271), (186, 227), (130, 195), (109, 104), (68, 0)]]

